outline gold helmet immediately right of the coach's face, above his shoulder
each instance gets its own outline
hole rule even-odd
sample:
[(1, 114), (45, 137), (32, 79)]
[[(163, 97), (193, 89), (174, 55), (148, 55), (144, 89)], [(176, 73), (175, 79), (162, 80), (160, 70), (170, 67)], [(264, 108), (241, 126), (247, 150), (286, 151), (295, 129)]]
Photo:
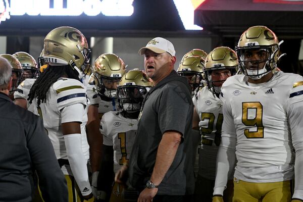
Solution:
[(177, 73), (187, 77), (192, 92), (201, 84), (204, 62), (205, 60), (199, 56), (189, 56), (179, 65)]

